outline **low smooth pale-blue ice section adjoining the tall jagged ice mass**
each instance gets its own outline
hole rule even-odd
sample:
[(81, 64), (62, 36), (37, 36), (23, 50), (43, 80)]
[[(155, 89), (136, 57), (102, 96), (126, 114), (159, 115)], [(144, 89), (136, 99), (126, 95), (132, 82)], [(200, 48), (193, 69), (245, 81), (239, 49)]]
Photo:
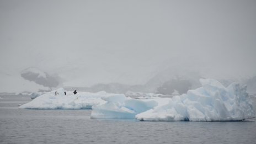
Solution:
[[(93, 105), (91, 118), (100, 119), (134, 119), (136, 114), (164, 104), (166, 98), (132, 99), (130, 97), (109, 96), (103, 98), (106, 103)], [(119, 99), (119, 100), (117, 100)]]

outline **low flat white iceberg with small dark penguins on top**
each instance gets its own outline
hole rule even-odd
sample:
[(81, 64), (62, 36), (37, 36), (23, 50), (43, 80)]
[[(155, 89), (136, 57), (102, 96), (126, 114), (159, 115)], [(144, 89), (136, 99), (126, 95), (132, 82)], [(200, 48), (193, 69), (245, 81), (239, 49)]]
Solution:
[[(55, 92), (58, 94), (55, 95)], [(78, 92), (76, 95), (71, 91), (66, 91), (67, 95), (64, 92), (63, 88), (59, 88), (42, 95), (33, 94), (36, 97), (31, 102), (19, 106), (19, 109), (92, 109), (95, 104), (105, 103), (101, 97), (119, 95), (104, 91), (98, 93)]]

